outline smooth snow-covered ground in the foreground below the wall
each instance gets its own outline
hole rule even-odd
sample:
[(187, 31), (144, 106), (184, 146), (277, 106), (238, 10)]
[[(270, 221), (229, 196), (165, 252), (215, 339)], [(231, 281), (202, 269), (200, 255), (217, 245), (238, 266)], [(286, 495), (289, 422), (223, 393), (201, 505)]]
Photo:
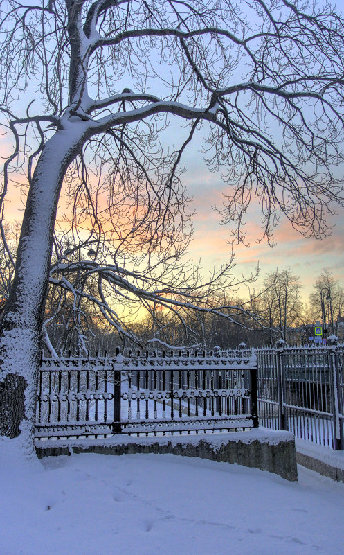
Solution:
[[(6, 441), (8, 447), (8, 441)], [(342, 555), (344, 484), (176, 455), (0, 445), (0, 555)]]

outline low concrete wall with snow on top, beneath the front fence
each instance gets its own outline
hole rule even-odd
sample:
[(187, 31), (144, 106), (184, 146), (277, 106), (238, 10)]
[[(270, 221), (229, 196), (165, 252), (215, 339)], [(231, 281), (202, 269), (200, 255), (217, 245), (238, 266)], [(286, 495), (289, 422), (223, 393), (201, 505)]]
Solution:
[[(163, 440), (163, 441), (162, 441)], [(127, 453), (172, 453), (184, 457), (200, 457), (212, 461), (242, 464), (278, 474), (291, 481), (298, 479), (295, 441), (289, 432), (232, 432), (186, 437), (114, 437), (113, 441), (97, 439), (68, 441), (39, 441), (36, 446), (39, 458), (70, 455), (74, 453), (102, 453), (124, 455)]]

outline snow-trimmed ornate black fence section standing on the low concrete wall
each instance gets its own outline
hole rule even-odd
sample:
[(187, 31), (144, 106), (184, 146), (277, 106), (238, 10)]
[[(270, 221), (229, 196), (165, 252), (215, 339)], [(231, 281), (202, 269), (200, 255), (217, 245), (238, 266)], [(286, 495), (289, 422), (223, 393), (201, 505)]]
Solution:
[(257, 427), (255, 355), (42, 358), (36, 437)]

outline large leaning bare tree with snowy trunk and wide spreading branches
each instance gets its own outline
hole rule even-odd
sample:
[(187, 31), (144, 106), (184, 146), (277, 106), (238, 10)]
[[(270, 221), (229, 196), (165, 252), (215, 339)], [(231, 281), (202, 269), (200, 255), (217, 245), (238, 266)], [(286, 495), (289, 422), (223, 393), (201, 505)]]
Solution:
[[(76, 290), (69, 275), (94, 279), (94, 302), (123, 333), (109, 305), (115, 292), (128, 304), (140, 298), (148, 310), (201, 307), (210, 298), (210, 286), (199, 284), (197, 272), (188, 279), (180, 262), (188, 218), (178, 167), (200, 128), (208, 133), (208, 165), (224, 167), (223, 218), (239, 240), (255, 198), (268, 238), (280, 213), (305, 235), (327, 233), (325, 212), (343, 204), (332, 166), (343, 161), (344, 26), (329, 4), (312, 5), (0, 2), (0, 104), (13, 141), (1, 210), (13, 182), (26, 190), (1, 318), (2, 435), (21, 432), (30, 444), (49, 279), (75, 298), (84, 288)], [(184, 123), (170, 150), (163, 148), (168, 118)], [(59, 252), (55, 220), (66, 206), (73, 240)], [(75, 263), (69, 252), (82, 248)]]

